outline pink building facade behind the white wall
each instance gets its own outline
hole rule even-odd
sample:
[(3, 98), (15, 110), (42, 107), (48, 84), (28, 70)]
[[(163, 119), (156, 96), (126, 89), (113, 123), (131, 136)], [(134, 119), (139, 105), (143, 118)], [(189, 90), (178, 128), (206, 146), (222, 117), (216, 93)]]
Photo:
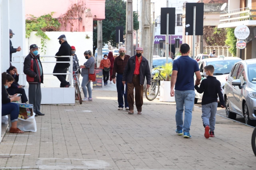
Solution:
[(105, 19), (105, 0), (25, 0), (25, 18), (29, 19), (31, 15), (40, 17), (51, 12), (54, 12), (53, 18), (61, 18), (73, 4), (83, 4), (85, 11), (81, 16), (70, 18), (73, 25), (68, 23), (66, 27), (61, 27), (61, 31), (93, 31), (93, 21)]

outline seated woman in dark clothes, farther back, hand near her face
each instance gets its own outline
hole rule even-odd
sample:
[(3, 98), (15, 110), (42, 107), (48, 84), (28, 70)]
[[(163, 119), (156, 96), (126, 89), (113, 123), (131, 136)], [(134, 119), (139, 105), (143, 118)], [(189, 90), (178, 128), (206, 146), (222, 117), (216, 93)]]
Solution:
[(18, 83), (18, 81), (19, 81), (19, 74), (18, 74), (17, 68), (14, 67), (14, 66), (10, 66), (9, 69), (6, 70), (6, 72), (8, 74), (10, 74), (14, 78), (14, 82), (12, 83), (12, 85), (9, 88), (7, 88), (7, 92), (10, 95), (14, 95), (16, 93), (22, 94), (21, 95), (21, 102), (22, 103), (27, 103), (28, 98), (27, 98), (25, 89), (22, 88), (24, 86), (23, 85), (19, 85), (19, 83)]

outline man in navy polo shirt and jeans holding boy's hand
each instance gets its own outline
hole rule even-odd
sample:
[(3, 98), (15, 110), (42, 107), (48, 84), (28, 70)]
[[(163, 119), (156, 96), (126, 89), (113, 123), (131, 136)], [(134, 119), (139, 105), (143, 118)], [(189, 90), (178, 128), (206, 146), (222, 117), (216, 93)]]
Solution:
[[(184, 138), (192, 138), (190, 135), (190, 125), (192, 120), (192, 109), (194, 105), (194, 73), (196, 81), (200, 84), (201, 75), (198, 63), (189, 57), (190, 47), (182, 44), (180, 48), (181, 57), (173, 62), (173, 73), (171, 77), (171, 96), (175, 96), (176, 101), (176, 133)], [(174, 95), (175, 85), (175, 95)], [(185, 109), (184, 109), (185, 107)], [(183, 111), (185, 117), (183, 123)], [(182, 133), (183, 130), (183, 133)]]

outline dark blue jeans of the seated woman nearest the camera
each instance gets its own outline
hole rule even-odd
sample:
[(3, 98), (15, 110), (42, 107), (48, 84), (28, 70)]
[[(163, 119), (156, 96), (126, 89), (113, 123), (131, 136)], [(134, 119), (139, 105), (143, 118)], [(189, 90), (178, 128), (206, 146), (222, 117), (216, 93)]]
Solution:
[(11, 122), (18, 121), (18, 116), (19, 116), (20, 108), (17, 103), (2, 103), (2, 116), (5, 115), (10, 115), (11, 116)]

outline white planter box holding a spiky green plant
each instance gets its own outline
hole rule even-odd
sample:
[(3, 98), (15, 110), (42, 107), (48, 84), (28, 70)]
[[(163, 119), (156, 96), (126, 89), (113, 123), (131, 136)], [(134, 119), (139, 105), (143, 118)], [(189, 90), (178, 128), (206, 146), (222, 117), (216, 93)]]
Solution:
[(171, 82), (160, 81), (160, 98), (159, 101), (175, 102), (175, 97), (171, 97)]

